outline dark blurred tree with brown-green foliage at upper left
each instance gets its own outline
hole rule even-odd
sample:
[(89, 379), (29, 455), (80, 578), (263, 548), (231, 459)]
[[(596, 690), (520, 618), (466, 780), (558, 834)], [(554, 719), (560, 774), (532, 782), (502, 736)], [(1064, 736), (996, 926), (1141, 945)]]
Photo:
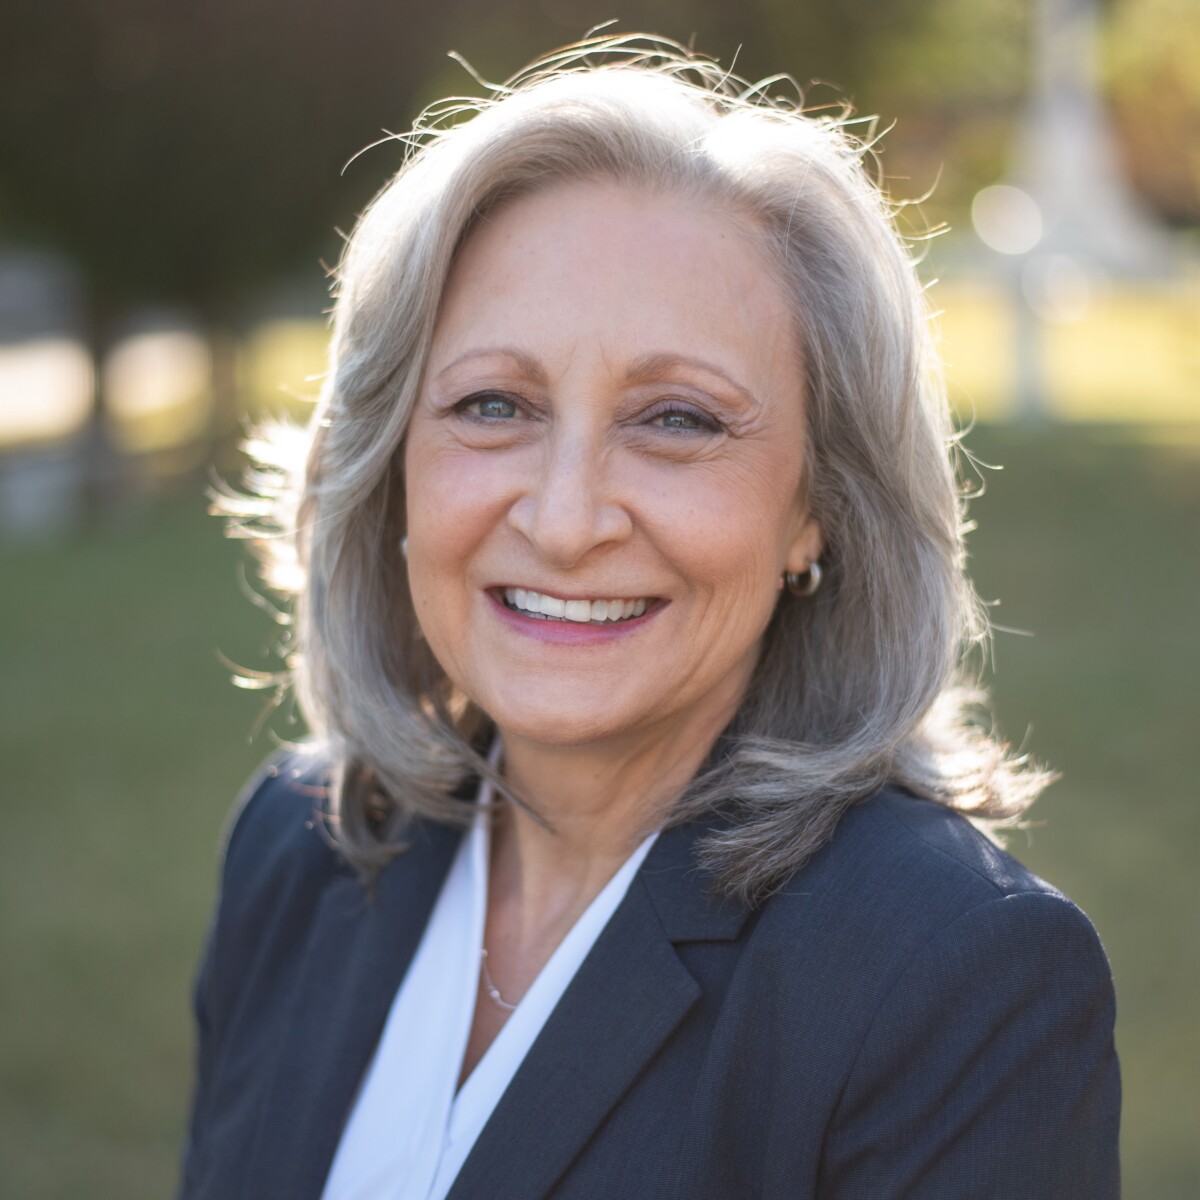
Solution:
[[(127, 306), (197, 312), (223, 373), (239, 299), (337, 254), (377, 187), (347, 160), (403, 127), (434, 6), (31, 0), (0, 40), (0, 236), (71, 256), (98, 364)], [(400, 162), (398, 149), (390, 167)], [(97, 386), (90, 443), (104, 454)], [(218, 406), (218, 433), (230, 424)]]

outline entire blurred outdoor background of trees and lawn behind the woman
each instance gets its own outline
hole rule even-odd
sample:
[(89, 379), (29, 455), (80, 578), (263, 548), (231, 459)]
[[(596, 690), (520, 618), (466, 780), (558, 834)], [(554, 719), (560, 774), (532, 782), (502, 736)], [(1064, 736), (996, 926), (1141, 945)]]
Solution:
[(221, 824), (298, 732), (228, 684), (278, 631), (204, 492), (310, 412), (338, 230), (401, 161), (355, 151), (478, 91), (448, 50), (503, 79), (617, 16), (881, 115), (988, 464), (998, 722), (1062, 772), (1013, 848), (1112, 959), (1127, 1194), (1200, 1195), (1195, 0), (0, 16), (0, 1194), (173, 1188)]

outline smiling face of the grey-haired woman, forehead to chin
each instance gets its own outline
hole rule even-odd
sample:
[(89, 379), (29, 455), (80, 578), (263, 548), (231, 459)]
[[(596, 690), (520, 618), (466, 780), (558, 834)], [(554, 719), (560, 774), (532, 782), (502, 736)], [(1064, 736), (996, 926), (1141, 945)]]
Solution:
[(438, 661), (510, 737), (710, 739), (781, 572), (821, 550), (804, 438), (788, 302), (727, 214), (599, 182), (502, 208), (451, 272), (404, 450)]

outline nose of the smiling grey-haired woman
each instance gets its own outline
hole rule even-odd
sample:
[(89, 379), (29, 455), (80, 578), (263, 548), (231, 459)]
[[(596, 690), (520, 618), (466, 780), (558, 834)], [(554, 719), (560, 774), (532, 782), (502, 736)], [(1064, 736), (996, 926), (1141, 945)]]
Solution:
[(629, 538), (632, 518), (613, 487), (601, 446), (582, 433), (551, 436), (509, 522), (550, 565), (577, 565), (600, 546)]

